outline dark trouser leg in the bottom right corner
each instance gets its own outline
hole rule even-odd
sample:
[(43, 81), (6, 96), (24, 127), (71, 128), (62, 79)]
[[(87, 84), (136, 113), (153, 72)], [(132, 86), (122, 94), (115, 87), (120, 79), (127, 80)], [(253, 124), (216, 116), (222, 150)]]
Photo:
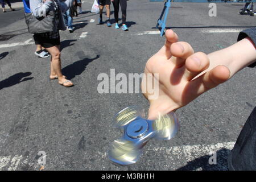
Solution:
[(229, 170), (256, 170), (256, 107), (247, 119), (228, 159)]

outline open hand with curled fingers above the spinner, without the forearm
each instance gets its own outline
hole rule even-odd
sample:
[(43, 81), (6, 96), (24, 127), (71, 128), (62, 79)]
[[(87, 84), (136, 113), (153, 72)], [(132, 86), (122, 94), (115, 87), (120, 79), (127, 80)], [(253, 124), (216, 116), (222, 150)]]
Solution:
[[(230, 71), (224, 65), (206, 71), (209, 58), (203, 52), (194, 53), (187, 42), (177, 42), (172, 30), (166, 31), (166, 43), (146, 63), (144, 73), (159, 73), (159, 96), (150, 101), (148, 119), (159, 113), (167, 114), (187, 105), (200, 94), (228, 80)], [(142, 80), (142, 92), (148, 99), (148, 90)], [(156, 88), (154, 88), (156, 89)]]

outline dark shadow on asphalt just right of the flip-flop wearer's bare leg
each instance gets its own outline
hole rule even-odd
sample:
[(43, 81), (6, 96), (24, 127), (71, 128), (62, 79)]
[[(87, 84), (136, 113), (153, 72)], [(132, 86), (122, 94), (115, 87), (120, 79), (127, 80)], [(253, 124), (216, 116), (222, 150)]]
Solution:
[(76, 75), (81, 75), (81, 73), (85, 71), (86, 66), (90, 62), (98, 59), (99, 57), (100, 57), (100, 55), (97, 55), (96, 57), (93, 57), (92, 59), (84, 58), (82, 60), (76, 61), (75, 63), (72, 63), (62, 69), (63, 75), (65, 75), (69, 80), (71, 80), (72, 78), (75, 78)]

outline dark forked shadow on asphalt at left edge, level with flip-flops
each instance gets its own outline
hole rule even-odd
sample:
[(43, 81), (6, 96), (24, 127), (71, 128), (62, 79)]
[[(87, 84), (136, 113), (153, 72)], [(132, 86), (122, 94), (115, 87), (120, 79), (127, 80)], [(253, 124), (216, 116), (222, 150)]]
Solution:
[[(0, 90), (3, 88), (7, 88), (16, 84), (19, 84), (20, 82), (31, 80), (34, 77), (27, 77), (30, 76), (32, 73), (31, 72), (26, 72), (26, 73), (16, 73), (13, 76), (10, 76), (9, 78), (6, 78), (5, 80), (0, 81)], [(24, 78), (27, 77), (27, 78)], [(23, 78), (23, 79), (22, 79)]]

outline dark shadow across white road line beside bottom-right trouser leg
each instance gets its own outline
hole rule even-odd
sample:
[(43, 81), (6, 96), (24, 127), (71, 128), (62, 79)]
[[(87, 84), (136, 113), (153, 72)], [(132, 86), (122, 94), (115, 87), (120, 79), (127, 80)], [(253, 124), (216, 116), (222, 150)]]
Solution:
[(213, 155), (205, 155), (188, 162), (187, 165), (177, 169), (177, 171), (194, 171), (198, 168), (203, 171), (227, 171), (229, 153), (230, 150), (222, 148), (216, 152), (216, 164), (209, 164), (209, 159)]

